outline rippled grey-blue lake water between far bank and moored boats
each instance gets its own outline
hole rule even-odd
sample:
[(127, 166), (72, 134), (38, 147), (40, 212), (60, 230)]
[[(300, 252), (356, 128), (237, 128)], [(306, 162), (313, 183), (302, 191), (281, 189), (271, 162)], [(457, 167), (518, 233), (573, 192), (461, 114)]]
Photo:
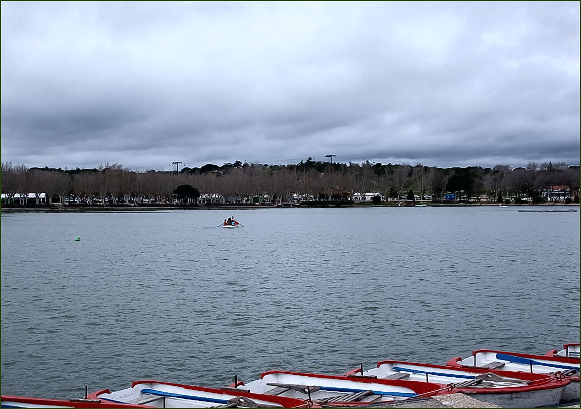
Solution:
[(2, 393), (579, 342), (579, 213), (256, 209), (216, 227), (231, 214), (2, 214)]

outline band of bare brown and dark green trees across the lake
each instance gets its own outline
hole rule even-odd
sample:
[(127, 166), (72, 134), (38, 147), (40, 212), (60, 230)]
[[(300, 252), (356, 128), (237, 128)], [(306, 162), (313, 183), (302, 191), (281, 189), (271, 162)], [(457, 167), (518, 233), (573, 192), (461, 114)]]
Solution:
[[(135, 172), (120, 164), (94, 169), (27, 168), (2, 162), (2, 193), (5, 198), (35, 194), (37, 204), (45, 193), (47, 204), (66, 200), (95, 204), (142, 204), (289, 201), (292, 195), (315, 200), (340, 200), (353, 193), (381, 192), (399, 198), (410, 190), (442, 198), (446, 192), (478, 200), (539, 196), (555, 186), (579, 190), (579, 167), (564, 162), (511, 168), (426, 167), (422, 164), (330, 163), (308, 158), (298, 164), (248, 164), (241, 161), (218, 166), (207, 164), (181, 171)], [(5, 201), (6, 203), (7, 201)], [(18, 204), (18, 200), (13, 200)]]

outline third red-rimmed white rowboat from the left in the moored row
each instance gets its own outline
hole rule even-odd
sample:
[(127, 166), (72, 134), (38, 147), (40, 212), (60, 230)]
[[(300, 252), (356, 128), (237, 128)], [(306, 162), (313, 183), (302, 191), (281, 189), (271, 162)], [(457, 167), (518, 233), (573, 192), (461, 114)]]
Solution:
[(360, 406), (362, 403), (392, 402), (453, 393), (446, 386), (429, 382), (347, 378), (288, 371), (263, 372), (256, 381), (239, 381), (230, 386), (251, 393), (304, 399), (333, 406)]

